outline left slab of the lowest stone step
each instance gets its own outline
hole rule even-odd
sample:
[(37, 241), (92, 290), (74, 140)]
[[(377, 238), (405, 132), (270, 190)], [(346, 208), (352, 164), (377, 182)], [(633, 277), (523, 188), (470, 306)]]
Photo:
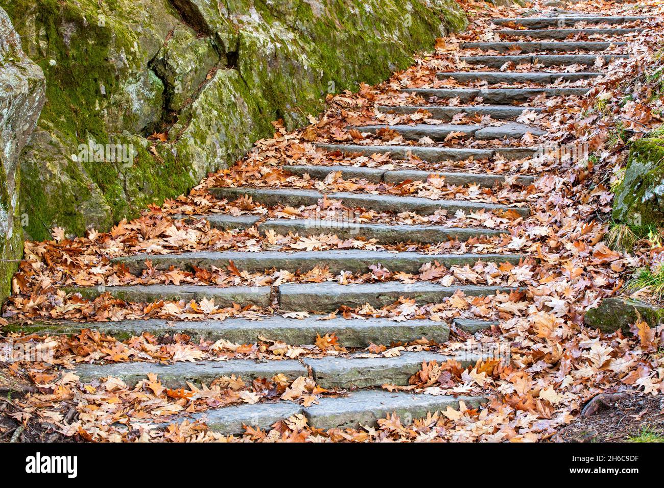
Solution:
[[(246, 426), (269, 430), (272, 424), (286, 420), (295, 414), (303, 413), (301, 407), (293, 402), (242, 404), (208, 410), (189, 417), (179, 417), (174, 422), (184, 420), (205, 422), (210, 430), (224, 434), (244, 434)], [(166, 422), (163, 427), (171, 422)]]

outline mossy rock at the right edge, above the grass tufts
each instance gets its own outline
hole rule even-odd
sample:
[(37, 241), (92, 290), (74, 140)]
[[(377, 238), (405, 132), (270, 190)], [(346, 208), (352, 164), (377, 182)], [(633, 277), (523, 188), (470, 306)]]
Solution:
[(616, 187), (614, 219), (664, 224), (664, 139), (646, 137), (631, 144), (625, 177)]

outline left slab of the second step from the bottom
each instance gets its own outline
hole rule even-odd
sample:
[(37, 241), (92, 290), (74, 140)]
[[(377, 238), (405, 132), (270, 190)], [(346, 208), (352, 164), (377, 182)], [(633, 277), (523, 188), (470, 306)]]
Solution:
[(179, 362), (171, 365), (155, 363), (115, 363), (111, 365), (76, 365), (74, 372), (82, 382), (101, 380), (108, 376), (120, 378), (127, 386), (133, 386), (147, 379), (148, 373), (156, 373), (159, 381), (168, 388), (187, 387), (187, 382), (205, 383), (207, 386), (215, 378), (234, 374), (250, 384), (256, 378), (272, 378), (276, 374), (284, 374), (290, 380), (298, 376), (307, 376), (307, 368), (299, 361), (252, 361), (249, 359), (230, 359), (228, 361), (197, 361)]

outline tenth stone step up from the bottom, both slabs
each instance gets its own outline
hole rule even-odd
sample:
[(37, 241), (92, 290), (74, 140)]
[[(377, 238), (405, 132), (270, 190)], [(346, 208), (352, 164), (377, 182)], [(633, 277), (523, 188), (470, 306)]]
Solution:
[[(432, 92), (446, 91), (446, 90), (431, 90)], [(461, 90), (450, 90), (452, 92)], [(468, 90), (469, 92), (477, 91), (478, 96), (483, 96), (485, 92), (480, 90)], [(491, 92), (493, 90), (486, 90)], [(583, 90), (585, 93), (587, 90)], [(444, 97), (452, 98), (452, 97)], [(473, 97), (474, 98), (474, 97)], [(459, 139), (474, 137), (475, 139), (488, 140), (488, 139), (503, 139), (503, 137), (523, 137), (526, 133), (533, 135), (544, 135), (545, 131), (539, 127), (526, 125), (525, 123), (507, 122), (503, 125), (455, 125), (453, 123), (442, 123), (440, 125), (433, 125), (428, 123), (416, 123), (413, 125), (361, 125), (355, 127), (362, 133), (375, 134), (381, 129), (391, 129), (398, 132), (404, 139), (408, 141), (419, 141), (422, 137), (428, 137), (434, 141), (444, 141), (445, 138), (453, 132), (462, 132), (465, 135), (459, 135)]]

